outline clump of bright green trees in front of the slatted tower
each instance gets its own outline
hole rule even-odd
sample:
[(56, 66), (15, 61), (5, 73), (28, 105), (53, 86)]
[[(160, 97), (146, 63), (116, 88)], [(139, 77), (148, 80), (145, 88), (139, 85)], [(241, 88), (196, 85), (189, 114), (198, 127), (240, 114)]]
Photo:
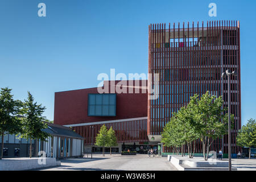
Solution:
[[(192, 142), (200, 139), (203, 143), (203, 155), (208, 159), (209, 147), (214, 139), (227, 133), (228, 114), (224, 114), (222, 96), (211, 96), (206, 92), (201, 97), (195, 94), (187, 106), (172, 113), (170, 122), (163, 129), (162, 142), (165, 146), (178, 147), (188, 144), (189, 157), (192, 157)], [(233, 121), (233, 115), (231, 115)], [(207, 150), (205, 155), (205, 149)]]

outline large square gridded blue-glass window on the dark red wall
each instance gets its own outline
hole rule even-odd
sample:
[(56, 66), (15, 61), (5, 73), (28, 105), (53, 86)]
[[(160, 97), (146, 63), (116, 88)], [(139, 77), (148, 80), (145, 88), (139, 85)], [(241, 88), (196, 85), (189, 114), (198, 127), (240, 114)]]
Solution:
[(88, 94), (88, 116), (115, 116), (116, 95)]

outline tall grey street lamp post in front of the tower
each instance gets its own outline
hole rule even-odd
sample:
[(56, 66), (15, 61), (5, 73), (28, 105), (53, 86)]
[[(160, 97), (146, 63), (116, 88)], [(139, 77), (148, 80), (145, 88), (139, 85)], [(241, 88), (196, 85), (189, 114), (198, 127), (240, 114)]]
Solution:
[(229, 171), (232, 170), (232, 163), (231, 163), (231, 121), (230, 121), (230, 75), (237, 76), (237, 72), (233, 71), (230, 72), (229, 69), (226, 70), (226, 72), (223, 72), (221, 75), (221, 78), (225, 78), (228, 76), (228, 115), (229, 115), (229, 121), (228, 121), (228, 143), (229, 143)]

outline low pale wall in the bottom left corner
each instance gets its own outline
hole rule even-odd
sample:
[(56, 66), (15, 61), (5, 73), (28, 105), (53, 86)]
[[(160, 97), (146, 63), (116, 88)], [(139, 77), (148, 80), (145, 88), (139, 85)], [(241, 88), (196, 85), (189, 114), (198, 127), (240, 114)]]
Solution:
[(7, 158), (0, 160), (0, 171), (24, 171), (60, 166), (56, 158)]

